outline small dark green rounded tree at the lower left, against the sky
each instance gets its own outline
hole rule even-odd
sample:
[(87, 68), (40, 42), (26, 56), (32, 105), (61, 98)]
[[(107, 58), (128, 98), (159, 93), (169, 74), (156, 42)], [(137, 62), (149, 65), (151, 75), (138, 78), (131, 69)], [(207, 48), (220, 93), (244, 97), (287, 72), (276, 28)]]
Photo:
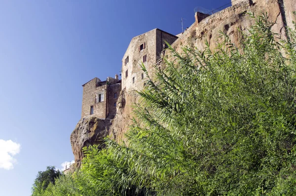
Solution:
[(54, 185), (57, 178), (62, 172), (56, 170), (53, 166), (47, 166), (45, 171), (38, 171), (37, 177), (33, 184), (32, 196), (41, 196), (51, 183)]

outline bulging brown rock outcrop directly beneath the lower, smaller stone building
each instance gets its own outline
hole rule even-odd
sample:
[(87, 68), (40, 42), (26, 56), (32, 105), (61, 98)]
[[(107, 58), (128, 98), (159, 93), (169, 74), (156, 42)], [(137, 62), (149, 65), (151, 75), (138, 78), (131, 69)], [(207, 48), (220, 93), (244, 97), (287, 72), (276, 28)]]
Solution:
[(96, 117), (81, 119), (70, 136), (70, 142), (75, 159), (75, 167), (80, 167), (83, 158), (82, 148), (93, 144), (102, 144), (108, 136), (110, 119), (102, 120)]

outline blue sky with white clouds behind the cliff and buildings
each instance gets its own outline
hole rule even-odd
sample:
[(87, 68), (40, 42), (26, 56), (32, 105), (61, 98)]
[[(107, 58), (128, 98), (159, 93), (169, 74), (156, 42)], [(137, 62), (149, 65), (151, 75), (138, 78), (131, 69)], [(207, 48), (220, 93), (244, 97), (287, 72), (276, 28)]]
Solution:
[(132, 37), (229, 2), (0, 0), (0, 195), (29, 196), (39, 170), (74, 159), (81, 84), (119, 74)]

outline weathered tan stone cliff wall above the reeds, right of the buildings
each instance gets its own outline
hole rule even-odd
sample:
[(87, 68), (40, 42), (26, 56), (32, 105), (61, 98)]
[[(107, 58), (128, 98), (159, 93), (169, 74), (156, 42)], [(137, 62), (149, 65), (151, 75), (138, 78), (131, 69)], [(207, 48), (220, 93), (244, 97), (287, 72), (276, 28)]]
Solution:
[[(251, 2), (251, 3), (250, 3)], [(294, 0), (243, 0), (239, 4), (234, 4), (220, 12), (217, 12), (201, 22), (195, 22), (172, 44), (177, 52), (182, 52), (184, 46), (197, 47), (202, 50), (205, 42), (208, 41), (211, 50), (214, 50), (217, 43), (221, 43), (220, 31), (225, 32), (236, 46), (240, 45), (241, 32), (254, 24), (247, 12), (254, 12), (255, 15), (268, 14), (269, 21), (275, 23), (273, 32), (278, 33), (282, 38), (286, 38), (285, 21), (292, 27), (295, 16), (292, 11), (296, 10)]]

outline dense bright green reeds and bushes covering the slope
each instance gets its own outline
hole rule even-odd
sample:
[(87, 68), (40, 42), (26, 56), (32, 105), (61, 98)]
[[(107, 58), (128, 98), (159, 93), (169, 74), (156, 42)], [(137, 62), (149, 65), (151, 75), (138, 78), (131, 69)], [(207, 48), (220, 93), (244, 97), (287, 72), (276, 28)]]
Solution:
[(215, 52), (170, 48), (127, 143), (90, 147), (78, 171), (33, 195), (295, 195), (296, 33), (275, 39), (266, 15), (251, 17), (240, 48), (225, 35)]

